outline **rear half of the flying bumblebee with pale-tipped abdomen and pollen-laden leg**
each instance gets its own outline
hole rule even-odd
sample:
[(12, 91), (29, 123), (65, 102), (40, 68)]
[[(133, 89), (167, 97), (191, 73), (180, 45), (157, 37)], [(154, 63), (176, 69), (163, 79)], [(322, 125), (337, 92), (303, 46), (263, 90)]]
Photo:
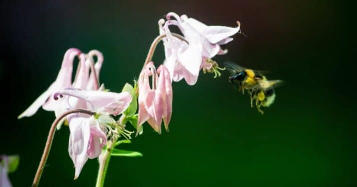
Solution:
[(249, 90), (250, 93), (250, 105), (253, 107), (253, 100), (255, 99), (255, 105), (260, 113), (264, 113), (261, 106), (269, 107), (275, 100), (274, 87), (281, 85), (282, 80), (258, 80), (257, 84)]

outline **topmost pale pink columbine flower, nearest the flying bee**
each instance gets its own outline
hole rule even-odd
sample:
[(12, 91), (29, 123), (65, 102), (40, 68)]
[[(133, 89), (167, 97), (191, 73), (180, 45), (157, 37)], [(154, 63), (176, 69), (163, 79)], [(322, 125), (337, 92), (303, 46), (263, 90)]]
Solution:
[[(171, 16), (176, 20), (170, 19)], [(222, 69), (210, 69), (212, 65), (208, 63), (216, 54), (227, 53), (220, 45), (232, 41), (230, 36), (239, 32), (240, 26), (207, 26), (194, 18), (188, 18), (186, 15), (180, 17), (174, 12), (167, 13), (166, 18), (166, 22), (160, 19), (158, 24), (160, 34), (166, 34), (163, 39), (166, 57), (164, 65), (170, 72), (171, 79), (180, 81), (185, 78), (188, 84), (193, 85), (203, 67), (206, 67), (208, 72), (215, 72), (215, 76), (219, 75), (218, 70)], [(169, 25), (180, 28), (188, 43), (173, 37)]]

